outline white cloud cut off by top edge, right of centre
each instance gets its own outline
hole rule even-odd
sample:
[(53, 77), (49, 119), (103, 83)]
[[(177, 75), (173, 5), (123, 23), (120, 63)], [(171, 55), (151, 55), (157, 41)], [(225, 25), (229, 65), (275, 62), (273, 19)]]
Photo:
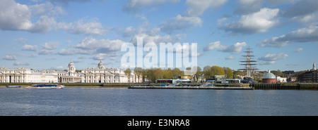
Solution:
[(219, 8), (223, 6), (227, 0), (187, 0), (186, 5), (188, 6), (185, 15), (188, 16), (199, 16), (206, 11), (208, 8)]

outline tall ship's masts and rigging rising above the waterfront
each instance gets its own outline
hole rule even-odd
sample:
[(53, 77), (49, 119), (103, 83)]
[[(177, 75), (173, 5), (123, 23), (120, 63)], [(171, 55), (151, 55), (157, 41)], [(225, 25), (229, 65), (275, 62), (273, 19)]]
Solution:
[(244, 67), (242, 69), (239, 70), (244, 70), (246, 71), (246, 77), (250, 77), (252, 78), (252, 72), (254, 72), (254, 70), (259, 70), (257, 69), (257, 67), (255, 65), (257, 60), (253, 60), (253, 55), (251, 55), (251, 53), (253, 53), (253, 51), (251, 51), (251, 48), (249, 48), (249, 46), (246, 48), (246, 51), (244, 51), (246, 54), (243, 55), (243, 57), (245, 58), (245, 60), (240, 61)]

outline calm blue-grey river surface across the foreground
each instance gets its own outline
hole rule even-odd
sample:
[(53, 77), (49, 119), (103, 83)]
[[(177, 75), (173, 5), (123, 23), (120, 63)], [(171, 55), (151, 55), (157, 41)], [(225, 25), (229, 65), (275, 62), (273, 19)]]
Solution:
[(318, 115), (318, 91), (0, 88), (0, 115)]

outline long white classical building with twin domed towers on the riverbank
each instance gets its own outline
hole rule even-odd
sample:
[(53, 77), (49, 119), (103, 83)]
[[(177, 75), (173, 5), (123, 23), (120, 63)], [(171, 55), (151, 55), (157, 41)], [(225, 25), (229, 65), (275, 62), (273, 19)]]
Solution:
[(0, 68), (0, 83), (141, 83), (134, 72), (127, 77), (119, 68), (105, 67), (100, 60), (97, 68), (87, 68), (76, 72), (74, 63), (67, 66), (67, 71), (29, 70), (25, 68)]

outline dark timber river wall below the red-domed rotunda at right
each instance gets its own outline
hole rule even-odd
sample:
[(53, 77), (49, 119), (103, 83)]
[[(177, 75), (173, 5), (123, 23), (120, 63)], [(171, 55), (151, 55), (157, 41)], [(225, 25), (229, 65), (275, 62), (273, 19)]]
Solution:
[(250, 84), (261, 90), (318, 90), (318, 83)]

